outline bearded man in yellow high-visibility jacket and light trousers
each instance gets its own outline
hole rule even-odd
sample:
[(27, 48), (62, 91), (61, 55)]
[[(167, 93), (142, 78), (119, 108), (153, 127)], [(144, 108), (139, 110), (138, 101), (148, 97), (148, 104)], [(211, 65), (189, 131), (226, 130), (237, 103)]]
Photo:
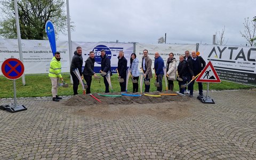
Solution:
[(53, 101), (60, 101), (62, 99), (57, 95), (59, 81), (63, 81), (63, 78), (60, 74), (61, 72), (61, 62), (60, 62), (60, 52), (55, 52), (54, 57), (50, 63), (49, 69), (49, 77), (52, 81), (52, 100)]

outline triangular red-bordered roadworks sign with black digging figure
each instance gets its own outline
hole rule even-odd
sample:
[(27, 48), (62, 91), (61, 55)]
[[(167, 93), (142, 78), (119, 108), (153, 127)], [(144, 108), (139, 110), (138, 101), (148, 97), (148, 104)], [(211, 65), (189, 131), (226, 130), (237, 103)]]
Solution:
[(197, 77), (196, 82), (220, 83), (220, 77), (212, 66), (211, 61), (204, 67), (202, 73)]

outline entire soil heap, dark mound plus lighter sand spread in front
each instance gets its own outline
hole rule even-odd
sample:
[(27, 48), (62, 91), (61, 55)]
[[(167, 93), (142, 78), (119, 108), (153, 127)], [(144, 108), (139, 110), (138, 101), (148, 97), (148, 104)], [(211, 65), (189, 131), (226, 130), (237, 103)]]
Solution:
[[(148, 94), (175, 93), (173, 91), (150, 92)], [(121, 95), (120, 92), (102, 93), (109, 95)], [(140, 93), (127, 93), (140, 94)], [(64, 101), (62, 105), (73, 106), (73, 114), (103, 119), (123, 118), (127, 116), (153, 116), (158, 119), (180, 119), (188, 117), (191, 102), (188, 97), (182, 95), (162, 95), (161, 97), (104, 97), (93, 94), (102, 102), (93, 99), (89, 94), (75, 95)], [(156, 105), (156, 103), (158, 103)]]

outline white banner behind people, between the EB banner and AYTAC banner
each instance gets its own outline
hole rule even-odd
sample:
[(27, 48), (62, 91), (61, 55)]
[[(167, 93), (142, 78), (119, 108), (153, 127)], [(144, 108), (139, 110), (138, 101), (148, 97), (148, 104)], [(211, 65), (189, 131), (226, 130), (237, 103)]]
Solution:
[(196, 44), (145, 44), (145, 43), (136, 43), (135, 53), (139, 59), (139, 67), (141, 67), (141, 61), (143, 57), (143, 50), (148, 50), (148, 55), (152, 60), (152, 68), (154, 68), (155, 61), (155, 52), (159, 52), (160, 56), (166, 64), (166, 60), (169, 57), (169, 53), (173, 53), (175, 59), (177, 59), (177, 65), (179, 63), (179, 56), (185, 55), (185, 51), (195, 51)]

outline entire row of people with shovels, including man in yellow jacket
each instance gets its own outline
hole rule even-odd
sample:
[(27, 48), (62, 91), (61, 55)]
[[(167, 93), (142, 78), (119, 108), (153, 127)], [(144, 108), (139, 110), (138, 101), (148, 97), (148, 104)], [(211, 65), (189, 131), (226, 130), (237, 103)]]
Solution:
[[(101, 57), (101, 70), (100, 74), (103, 76), (104, 84), (105, 84), (105, 93), (109, 92), (109, 83), (107, 79), (107, 74), (111, 76), (111, 65), (110, 65), (110, 58), (106, 54), (105, 50), (100, 51), (100, 57)], [(179, 65), (177, 67), (177, 60), (174, 58), (174, 54), (170, 53), (169, 58), (166, 59), (166, 65), (164, 64), (164, 60), (160, 56), (159, 52), (155, 52), (155, 61), (154, 61), (154, 70), (155, 70), (155, 81), (159, 85), (157, 85), (157, 91), (162, 92), (162, 81), (164, 76), (164, 69), (166, 68), (166, 76), (168, 79), (168, 89), (173, 91), (174, 84), (173, 81), (178, 77), (182, 78), (182, 81), (179, 81), (180, 86), (180, 94), (184, 94), (185, 89), (181, 87), (181, 85), (186, 84), (191, 79), (195, 78), (195, 76), (203, 70), (205, 67), (205, 61), (202, 57), (198, 57), (196, 55), (196, 52), (191, 52), (191, 56), (189, 54), (189, 51), (185, 52), (185, 56), (180, 55), (179, 57)], [(71, 60), (70, 65), (70, 74), (73, 79), (73, 92), (74, 95), (78, 94), (78, 85), (79, 85), (79, 79), (74, 73), (74, 70), (77, 68), (79, 72), (79, 76), (81, 76), (81, 79), (84, 78), (87, 84), (86, 88), (86, 94), (91, 93), (91, 82), (92, 82), (92, 76), (97, 77), (96, 73), (94, 72), (94, 52), (91, 51), (89, 54), (89, 58), (85, 61), (84, 70), (82, 72), (82, 66), (83, 66), (83, 57), (82, 57), (82, 47), (78, 46), (76, 47), (76, 51), (74, 52), (74, 56)], [(141, 62), (141, 72), (144, 76), (144, 82), (145, 82), (145, 92), (149, 92), (150, 90), (150, 79), (153, 78), (152, 74), (152, 60), (148, 56), (148, 50), (143, 50), (143, 57)], [(164, 68), (165, 67), (165, 68)], [(127, 68), (127, 60), (124, 57), (124, 52), (119, 51), (118, 54), (118, 65), (117, 65), (117, 73), (118, 78), (123, 78), (124, 81), (120, 81), (120, 87), (121, 92), (125, 92), (126, 89), (126, 77), (127, 76), (127, 69), (131, 70), (131, 76), (132, 76), (132, 82), (133, 82), (133, 93), (138, 92), (139, 89), (139, 59), (137, 58), (137, 55), (135, 53), (131, 54), (130, 57), (130, 65), (129, 68)], [(178, 75), (177, 75), (178, 71)], [(49, 69), (49, 77), (52, 82), (52, 100), (53, 101), (59, 101), (62, 99), (57, 95), (58, 91), (58, 85), (59, 80), (63, 81), (63, 78), (60, 74), (61, 72), (61, 63), (60, 63), (60, 53), (56, 52), (54, 54), (54, 57), (52, 58), (52, 61), (50, 63), (50, 69)], [(194, 90), (194, 82), (190, 83), (188, 85), (188, 90), (190, 91), (190, 97), (193, 97), (193, 90)], [(199, 94), (203, 95), (203, 85), (202, 83), (198, 83), (198, 89)]]

